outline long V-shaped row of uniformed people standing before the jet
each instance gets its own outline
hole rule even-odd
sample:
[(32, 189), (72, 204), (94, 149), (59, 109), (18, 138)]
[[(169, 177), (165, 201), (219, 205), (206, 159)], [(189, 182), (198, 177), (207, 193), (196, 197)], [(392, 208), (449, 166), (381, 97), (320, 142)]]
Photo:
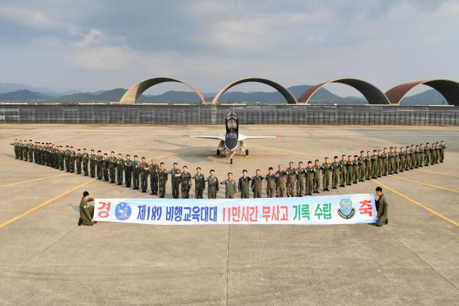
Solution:
[[(55, 167), (62, 171), (82, 174), (85, 176), (96, 177), (99, 180), (105, 180), (111, 184), (123, 184), (126, 188), (141, 190), (147, 192), (148, 178), (150, 179), (150, 189), (152, 195), (159, 195), (161, 198), (166, 194), (166, 183), (171, 178), (172, 197), (178, 199), (188, 199), (189, 192), (194, 182), (196, 199), (203, 199), (203, 192), (207, 183), (208, 198), (215, 199), (219, 191), (219, 185), (225, 184), (225, 197), (232, 199), (237, 192), (241, 198), (249, 198), (249, 192), (253, 193), (254, 198), (261, 197), (263, 185), (266, 188), (268, 197), (303, 196), (318, 194), (320, 184), (324, 192), (337, 189), (345, 185), (357, 184), (364, 180), (377, 179), (378, 177), (393, 175), (398, 172), (408, 171), (417, 167), (433, 165), (434, 163), (443, 163), (446, 145), (441, 143), (423, 143), (420, 145), (407, 146), (406, 148), (391, 147), (389, 150), (384, 148), (374, 150), (360, 155), (342, 155), (330, 162), (325, 158), (324, 163), (319, 160), (314, 161), (314, 165), (309, 161), (304, 167), (302, 162), (298, 167), (290, 162), (287, 169), (278, 165), (278, 170), (274, 172), (273, 167), (268, 168), (267, 175), (261, 175), (261, 170), (257, 169), (254, 176), (247, 174), (246, 170), (242, 171), (242, 177), (236, 180), (232, 177), (232, 172), (227, 173), (227, 180), (220, 181), (215, 177), (215, 171), (210, 170), (209, 175), (205, 177), (201, 172), (201, 167), (196, 168), (196, 173), (191, 174), (188, 167), (183, 166), (181, 169), (177, 163), (174, 163), (171, 170), (166, 170), (164, 163), (157, 165), (155, 158), (151, 159), (150, 164), (143, 157), (138, 160), (134, 155), (133, 160), (127, 154), (125, 157), (121, 153), (115, 156), (114, 151), (107, 155), (102, 155), (99, 150), (97, 153), (93, 149), (89, 152), (84, 148), (74, 150), (72, 146), (56, 146), (54, 143), (40, 143), (32, 141), (16, 140), (11, 143), (14, 146), (16, 159), (35, 162), (40, 165)], [(264, 181), (264, 184), (263, 184)]]

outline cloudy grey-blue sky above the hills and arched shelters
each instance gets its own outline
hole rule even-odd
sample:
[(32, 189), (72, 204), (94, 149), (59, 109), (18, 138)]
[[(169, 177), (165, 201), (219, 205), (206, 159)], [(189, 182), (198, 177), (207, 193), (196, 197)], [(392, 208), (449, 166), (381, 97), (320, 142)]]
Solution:
[(0, 82), (95, 91), (170, 76), (212, 93), (248, 76), (285, 87), (354, 77), (385, 92), (459, 81), (458, 30), (459, 0), (1, 0)]

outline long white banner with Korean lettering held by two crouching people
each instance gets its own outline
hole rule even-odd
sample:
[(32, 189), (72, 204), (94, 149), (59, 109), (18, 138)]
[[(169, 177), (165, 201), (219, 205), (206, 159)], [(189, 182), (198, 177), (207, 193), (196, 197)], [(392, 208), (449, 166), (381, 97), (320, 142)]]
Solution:
[(263, 199), (95, 199), (94, 220), (156, 225), (376, 222), (373, 194)]

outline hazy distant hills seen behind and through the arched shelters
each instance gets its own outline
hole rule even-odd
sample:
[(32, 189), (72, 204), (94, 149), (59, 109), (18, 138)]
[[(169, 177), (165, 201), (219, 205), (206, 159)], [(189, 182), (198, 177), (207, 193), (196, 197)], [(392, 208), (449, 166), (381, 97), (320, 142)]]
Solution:
[[(0, 83), (0, 88), (2, 84)], [(14, 85), (14, 84), (13, 84)], [(16, 84), (18, 85), (18, 84)], [(306, 90), (311, 88), (309, 85), (292, 86), (288, 88), (295, 98), (299, 98)], [(45, 93), (37, 92), (34, 90), (15, 90), (8, 93), (0, 93), (0, 102), (53, 102), (53, 103), (64, 103), (74, 104), (78, 102), (112, 102), (119, 101), (121, 97), (126, 93), (124, 88), (114, 88), (112, 90), (98, 90), (93, 93), (71, 93), (68, 95), (61, 95), (59, 98), (47, 95)], [(205, 93), (205, 98), (208, 101), (212, 101), (215, 93)], [(443, 96), (436, 90), (427, 90), (424, 93), (418, 93), (402, 100), (402, 105), (442, 105)], [(189, 91), (176, 91), (170, 90), (160, 95), (141, 95), (137, 99), (138, 103), (200, 103), (198, 95)], [(222, 95), (219, 100), (220, 103), (268, 103), (268, 104), (283, 104), (285, 98), (282, 97), (278, 91), (273, 92), (242, 92), (242, 91), (230, 91)], [(333, 93), (330, 93), (326, 88), (320, 88), (312, 96), (309, 102), (320, 105), (362, 105), (366, 104), (366, 100), (363, 97), (340, 97)]]

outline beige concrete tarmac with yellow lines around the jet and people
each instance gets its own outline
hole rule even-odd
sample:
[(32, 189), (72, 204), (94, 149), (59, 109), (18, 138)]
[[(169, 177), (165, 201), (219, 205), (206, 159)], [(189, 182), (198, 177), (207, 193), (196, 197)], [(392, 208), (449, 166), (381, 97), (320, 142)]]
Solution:
[[(241, 126), (249, 156), (215, 155), (224, 126), (0, 125), (0, 305), (459, 305), (459, 128)], [(445, 163), (325, 194), (381, 185), (390, 223), (374, 225), (77, 226), (83, 191), (155, 198), (15, 160), (13, 139), (54, 142), (254, 175), (290, 160), (330, 159), (446, 141)], [(149, 162), (149, 160), (148, 160)], [(148, 190), (150, 191), (150, 190)], [(323, 195), (324, 192), (321, 194)], [(225, 192), (220, 190), (219, 197)], [(193, 188), (191, 196), (194, 196)], [(263, 196), (266, 196), (263, 193)], [(167, 197), (171, 197), (170, 183)]]

